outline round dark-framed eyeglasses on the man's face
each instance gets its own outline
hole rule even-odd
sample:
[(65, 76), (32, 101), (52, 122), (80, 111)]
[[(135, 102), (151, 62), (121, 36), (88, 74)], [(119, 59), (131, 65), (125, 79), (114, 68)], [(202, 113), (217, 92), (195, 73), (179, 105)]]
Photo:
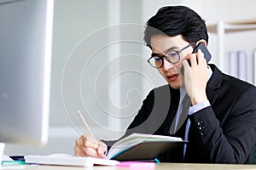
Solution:
[(157, 55), (157, 54), (152, 54), (152, 56), (147, 60), (148, 63), (153, 66), (154, 68), (161, 68), (164, 64), (164, 58), (172, 64), (176, 64), (180, 60), (179, 54), (186, 48), (189, 48), (189, 46), (194, 46), (194, 42), (189, 43), (186, 47), (175, 51), (173, 49), (168, 50), (166, 52), (166, 55)]

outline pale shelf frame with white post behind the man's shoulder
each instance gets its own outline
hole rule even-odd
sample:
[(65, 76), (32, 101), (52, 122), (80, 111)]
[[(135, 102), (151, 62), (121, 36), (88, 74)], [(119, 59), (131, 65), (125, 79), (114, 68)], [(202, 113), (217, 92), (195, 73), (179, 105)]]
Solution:
[[(207, 30), (210, 33), (215, 33), (217, 35), (217, 49), (218, 49), (218, 67), (227, 71), (227, 66), (225, 63), (225, 42), (224, 37), (227, 34), (234, 32), (245, 32), (245, 31), (256, 31), (256, 18), (251, 20), (238, 20), (238, 21), (218, 21), (216, 24), (208, 25)], [(255, 58), (255, 56), (254, 56)], [(255, 67), (255, 66), (254, 66)], [(254, 84), (256, 84), (256, 71), (254, 72)], [(253, 73), (252, 72), (252, 73)]]

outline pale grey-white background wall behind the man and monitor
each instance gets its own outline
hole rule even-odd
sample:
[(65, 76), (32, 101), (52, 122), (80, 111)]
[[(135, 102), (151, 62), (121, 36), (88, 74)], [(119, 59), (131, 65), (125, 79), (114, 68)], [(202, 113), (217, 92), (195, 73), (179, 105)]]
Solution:
[[(143, 25), (158, 8), (172, 4), (195, 9), (207, 24), (256, 18), (253, 0), (55, 0), (49, 144), (40, 149), (7, 144), (6, 154), (72, 154), (74, 139), (86, 133), (76, 115), (78, 109), (83, 111), (97, 137), (117, 138), (122, 131), (113, 128), (125, 129), (148, 91), (165, 83), (146, 63), (149, 50), (142, 42)], [(116, 23), (121, 25), (114, 26)], [(113, 37), (106, 35), (109, 26), (113, 26)], [(253, 49), (255, 36), (255, 32), (227, 35), (225, 48)], [(116, 43), (119, 45), (108, 44), (114, 38), (121, 38)], [(218, 54), (216, 43), (216, 35), (210, 34), (212, 62), (218, 64), (214, 59)], [(117, 51), (109, 52), (110, 49)]]

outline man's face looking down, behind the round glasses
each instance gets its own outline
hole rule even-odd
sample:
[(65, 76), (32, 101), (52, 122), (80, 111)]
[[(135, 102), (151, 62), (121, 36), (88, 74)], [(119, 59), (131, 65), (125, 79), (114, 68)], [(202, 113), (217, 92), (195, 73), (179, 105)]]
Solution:
[[(166, 52), (170, 49), (178, 51), (187, 45), (189, 45), (189, 42), (186, 42), (181, 35), (169, 37), (159, 34), (151, 37), (152, 54), (157, 54), (159, 56), (166, 55)], [(158, 71), (172, 88), (177, 89), (183, 87), (183, 75), (180, 70), (183, 66), (182, 62), (184, 57), (186, 54), (191, 54), (192, 51), (193, 48), (191, 46), (181, 51), (179, 53), (180, 59), (176, 64), (172, 64), (168, 62), (166, 58), (163, 58), (164, 63)]]

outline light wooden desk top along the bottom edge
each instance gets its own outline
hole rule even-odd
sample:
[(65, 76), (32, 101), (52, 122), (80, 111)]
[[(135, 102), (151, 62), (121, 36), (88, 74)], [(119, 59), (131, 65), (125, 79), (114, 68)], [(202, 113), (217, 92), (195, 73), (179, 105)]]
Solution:
[[(124, 167), (106, 167), (95, 166), (93, 168), (87, 167), (63, 167), (63, 166), (17, 166), (14, 167), (2, 167), (1, 169), (29, 169), (29, 170), (129, 170)], [(230, 165), (230, 164), (188, 164), (188, 163), (159, 163), (156, 164), (155, 170), (256, 170), (256, 165)]]

